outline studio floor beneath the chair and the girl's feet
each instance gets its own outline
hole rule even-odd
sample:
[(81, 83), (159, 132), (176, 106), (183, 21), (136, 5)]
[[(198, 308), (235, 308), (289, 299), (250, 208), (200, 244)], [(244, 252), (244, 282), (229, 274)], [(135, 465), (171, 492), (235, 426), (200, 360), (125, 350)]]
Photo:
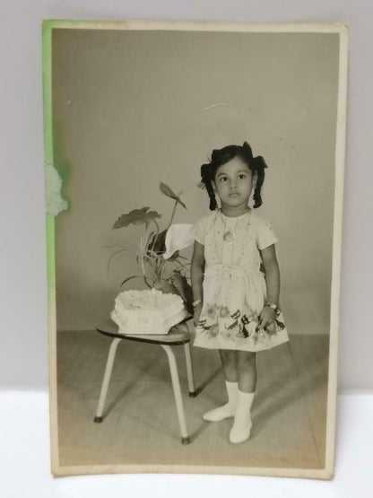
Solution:
[(231, 419), (202, 419), (226, 398), (218, 353), (197, 347), (196, 398), (188, 397), (184, 348), (174, 348), (190, 444), (180, 442), (169, 363), (159, 345), (118, 346), (104, 420), (95, 424), (110, 341), (94, 331), (57, 334), (60, 466), (325, 467), (328, 336), (291, 336), (289, 344), (257, 354), (253, 428), (236, 445), (228, 441)]

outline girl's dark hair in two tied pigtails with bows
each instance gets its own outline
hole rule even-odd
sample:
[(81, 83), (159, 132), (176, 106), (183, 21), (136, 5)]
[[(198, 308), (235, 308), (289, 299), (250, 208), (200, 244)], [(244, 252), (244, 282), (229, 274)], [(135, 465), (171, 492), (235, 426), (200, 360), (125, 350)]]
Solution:
[(256, 174), (256, 188), (254, 190), (254, 207), (262, 205), (261, 189), (265, 181), (265, 160), (261, 155), (253, 157), (251, 147), (247, 142), (243, 145), (227, 145), (222, 149), (214, 149), (211, 160), (201, 166), (201, 181), (204, 183), (207, 193), (210, 197), (210, 209), (213, 211), (218, 207), (215, 194), (213, 192), (213, 180), (215, 179), (216, 170), (222, 164), (229, 162), (231, 159), (239, 157), (246, 162), (248, 169)]

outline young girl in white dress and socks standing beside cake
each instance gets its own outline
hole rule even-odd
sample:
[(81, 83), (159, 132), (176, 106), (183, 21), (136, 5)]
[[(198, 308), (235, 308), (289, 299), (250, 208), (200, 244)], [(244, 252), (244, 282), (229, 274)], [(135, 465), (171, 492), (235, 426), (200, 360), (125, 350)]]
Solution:
[(233, 443), (250, 435), (256, 351), (289, 340), (279, 308), (278, 239), (271, 224), (248, 206), (252, 192), (254, 208), (262, 205), (265, 168), (247, 142), (214, 150), (211, 162), (201, 167), (213, 213), (195, 223), (194, 345), (219, 349), (228, 402), (204, 414), (204, 420), (234, 417)]

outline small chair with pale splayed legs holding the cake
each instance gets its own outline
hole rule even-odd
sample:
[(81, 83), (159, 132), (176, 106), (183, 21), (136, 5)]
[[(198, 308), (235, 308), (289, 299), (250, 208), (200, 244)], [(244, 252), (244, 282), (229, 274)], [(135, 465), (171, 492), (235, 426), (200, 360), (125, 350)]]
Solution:
[(186, 354), (186, 371), (187, 371), (187, 381), (189, 388), (189, 397), (194, 398), (195, 392), (195, 381), (193, 376), (193, 365), (192, 356), (190, 353), (190, 336), (188, 333), (186, 321), (191, 319), (188, 317), (183, 320), (178, 325), (170, 328), (169, 333), (166, 335), (123, 335), (118, 334), (117, 324), (111, 320), (106, 319), (100, 325), (96, 327), (96, 330), (103, 334), (104, 336), (114, 337), (108, 350), (108, 360), (106, 363), (105, 373), (102, 380), (102, 387), (100, 392), (99, 405), (97, 406), (96, 416), (94, 417), (94, 422), (100, 423), (103, 420), (103, 412), (105, 407), (105, 401), (108, 394), (108, 384), (111, 378), (111, 372), (113, 370), (114, 360), (117, 353), (117, 345), (121, 341), (137, 341), (141, 343), (160, 345), (160, 347), (166, 352), (167, 358), (169, 360), (169, 371), (171, 374), (172, 387), (174, 390), (176, 408), (178, 412), (178, 424), (180, 426), (181, 432), (181, 442), (183, 444), (188, 444), (190, 438), (186, 430), (186, 417), (184, 412), (183, 398), (181, 395), (180, 381), (178, 378), (178, 364), (175, 358), (175, 354), (172, 351), (172, 347), (175, 345), (184, 345)]

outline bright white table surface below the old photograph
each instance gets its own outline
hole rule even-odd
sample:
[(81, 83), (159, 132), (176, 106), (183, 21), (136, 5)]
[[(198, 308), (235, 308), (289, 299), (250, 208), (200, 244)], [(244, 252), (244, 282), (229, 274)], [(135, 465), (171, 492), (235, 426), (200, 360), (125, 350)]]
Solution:
[(49, 470), (48, 395), (4, 391), (0, 392), (0, 406), (0, 496), (4, 498), (373, 496), (371, 393), (338, 397), (336, 471), (332, 481), (146, 474), (55, 478)]

